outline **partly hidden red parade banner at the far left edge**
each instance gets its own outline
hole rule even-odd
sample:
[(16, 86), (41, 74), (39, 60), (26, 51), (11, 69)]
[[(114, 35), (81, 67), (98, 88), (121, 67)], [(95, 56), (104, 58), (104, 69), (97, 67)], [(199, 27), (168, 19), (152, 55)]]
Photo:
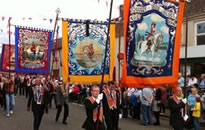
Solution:
[(1, 51), (0, 68), (1, 71), (5, 71), (5, 72), (15, 71), (15, 46), (14, 45), (10, 45), (10, 54), (9, 54), (9, 44), (3, 44), (2, 51)]

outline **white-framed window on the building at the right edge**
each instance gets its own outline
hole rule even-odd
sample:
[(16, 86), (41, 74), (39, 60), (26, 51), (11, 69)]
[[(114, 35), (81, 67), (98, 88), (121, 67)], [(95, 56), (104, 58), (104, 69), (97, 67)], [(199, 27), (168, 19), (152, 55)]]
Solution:
[(205, 45), (205, 21), (196, 23), (196, 45)]

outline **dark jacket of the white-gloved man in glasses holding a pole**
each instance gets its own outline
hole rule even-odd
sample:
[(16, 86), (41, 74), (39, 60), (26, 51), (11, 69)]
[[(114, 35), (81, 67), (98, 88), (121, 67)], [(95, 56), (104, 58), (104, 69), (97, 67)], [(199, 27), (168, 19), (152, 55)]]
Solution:
[[(91, 103), (89, 99), (86, 99), (84, 104), (85, 104), (87, 118), (83, 123), (82, 128), (86, 130), (96, 130), (96, 122), (93, 121), (93, 110), (96, 107), (98, 107), (98, 104), (96, 102)], [(102, 122), (99, 122), (98, 130), (105, 130), (105, 126)]]

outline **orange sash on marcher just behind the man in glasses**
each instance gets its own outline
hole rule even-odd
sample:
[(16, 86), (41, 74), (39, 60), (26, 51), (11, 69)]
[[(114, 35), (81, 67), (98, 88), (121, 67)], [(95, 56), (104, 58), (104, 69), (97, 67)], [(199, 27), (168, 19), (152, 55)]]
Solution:
[(116, 91), (112, 90), (111, 91), (112, 95), (111, 95), (110, 91), (108, 89), (104, 89), (104, 93), (106, 95), (107, 102), (108, 102), (110, 109), (117, 108)]

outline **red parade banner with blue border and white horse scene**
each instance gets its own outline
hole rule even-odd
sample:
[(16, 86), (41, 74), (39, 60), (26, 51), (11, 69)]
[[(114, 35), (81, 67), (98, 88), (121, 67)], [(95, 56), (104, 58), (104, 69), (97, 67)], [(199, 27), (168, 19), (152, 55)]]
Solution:
[(48, 73), (52, 32), (15, 27), (15, 68), (17, 72)]

